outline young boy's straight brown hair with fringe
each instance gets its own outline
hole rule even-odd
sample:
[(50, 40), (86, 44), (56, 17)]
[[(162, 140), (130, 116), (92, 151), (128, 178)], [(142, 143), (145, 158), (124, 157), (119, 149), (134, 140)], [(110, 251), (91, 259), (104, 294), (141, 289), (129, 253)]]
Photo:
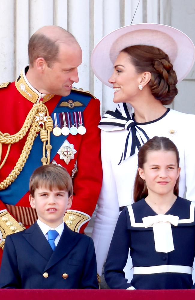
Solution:
[(37, 168), (31, 175), (29, 191), (34, 197), (35, 190), (39, 187), (46, 187), (50, 191), (53, 189), (67, 190), (68, 197), (73, 195), (73, 184), (67, 170), (55, 164), (49, 164)]

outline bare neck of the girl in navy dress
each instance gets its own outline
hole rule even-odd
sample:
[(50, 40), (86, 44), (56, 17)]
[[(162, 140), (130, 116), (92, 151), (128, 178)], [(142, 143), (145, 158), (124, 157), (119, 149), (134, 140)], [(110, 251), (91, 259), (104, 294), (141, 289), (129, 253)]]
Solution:
[(166, 195), (158, 195), (149, 192), (145, 201), (157, 214), (165, 214), (170, 210), (176, 199), (177, 196), (174, 195), (173, 192)]

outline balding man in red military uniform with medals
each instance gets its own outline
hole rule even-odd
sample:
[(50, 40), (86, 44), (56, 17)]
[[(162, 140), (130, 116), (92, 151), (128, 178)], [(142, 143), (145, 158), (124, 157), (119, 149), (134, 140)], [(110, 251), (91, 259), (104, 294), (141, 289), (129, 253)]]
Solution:
[(79, 44), (58, 26), (43, 27), (29, 41), (29, 61), (16, 82), (0, 85), (0, 259), (6, 236), (37, 219), (28, 186), (35, 168), (60, 164), (72, 176), (64, 221), (75, 231), (83, 232), (101, 188), (100, 103), (72, 88)]

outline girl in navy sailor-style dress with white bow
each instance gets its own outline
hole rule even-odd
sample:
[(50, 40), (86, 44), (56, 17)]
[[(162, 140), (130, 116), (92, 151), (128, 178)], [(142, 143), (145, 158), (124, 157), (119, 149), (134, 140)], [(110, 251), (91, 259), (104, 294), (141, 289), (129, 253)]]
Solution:
[[(178, 196), (179, 153), (166, 137), (138, 152), (135, 203), (121, 212), (105, 266), (112, 289), (191, 289), (195, 203)], [(123, 271), (130, 249), (133, 279)]]

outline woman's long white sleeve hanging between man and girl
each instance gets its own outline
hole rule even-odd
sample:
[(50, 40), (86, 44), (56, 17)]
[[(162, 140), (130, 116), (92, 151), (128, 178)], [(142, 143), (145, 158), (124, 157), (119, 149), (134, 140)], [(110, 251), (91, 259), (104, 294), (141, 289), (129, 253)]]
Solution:
[(119, 217), (116, 182), (110, 161), (110, 154), (112, 151), (113, 149), (111, 149), (109, 143), (109, 133), (101, 131), (103, 182), (92, 233), (97, 259), (97, 270), (100, 275), (107, 258), (110, 242)]

